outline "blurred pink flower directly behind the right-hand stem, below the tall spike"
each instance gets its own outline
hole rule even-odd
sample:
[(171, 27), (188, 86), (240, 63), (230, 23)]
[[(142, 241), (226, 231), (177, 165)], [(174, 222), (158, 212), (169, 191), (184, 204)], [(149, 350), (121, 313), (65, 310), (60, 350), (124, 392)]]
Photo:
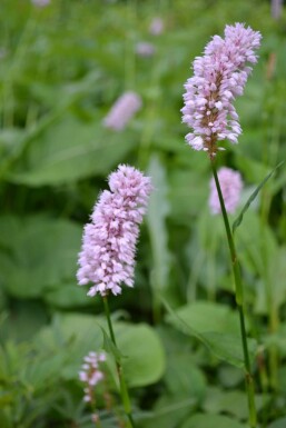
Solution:
[[(234, 213), (240, 199), (243, 179), (238, 171), (223, 167), (217, 172), (226, 211)], [(210, 180), (209, 208), (211, 213), (221, 212), (215, 179)]]

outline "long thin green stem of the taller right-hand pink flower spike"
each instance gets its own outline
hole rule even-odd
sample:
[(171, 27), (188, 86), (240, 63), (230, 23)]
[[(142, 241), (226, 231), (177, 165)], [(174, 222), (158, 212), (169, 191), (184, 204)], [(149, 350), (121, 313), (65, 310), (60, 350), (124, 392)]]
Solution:
[(226, 212), (226, 207), (225, 207), (223, 192), (220, 189), (214, 158), (210, 158), (210, 165), (211, 165), (211, 169), (213, 169), (214, 179), (216, 182), (219, 203), (220, 203), (224, 223), (225, 223), (225, 228), (226, 228), (227, 241), (228, 241), (229, 252), (230, 252), (230, 257), (231, 257), (233, 272), (234, 272), (234, 279), (235, 279), (236, 305), (237, 305), (237, 309), (239, 312), (241, 342), (243, 342), (243, 349), (244, 349), (244, 360), (245, 360), (245, 370), (246, 370), (245, 380), (246, 380), (246, 390), (247, 390), (247, 397), (248, 397), (249, 426), (252, 428), (256, 428), (257, 416), (256, 416), (256, 408), (255, 408), (255, 387), (254, 387), (254, 378), (252, 375), (250, 359), (249, 359), (247, 336), (246, 336), (246, 328), (245, 328), (244, 293), (243, 293), (240, 268), (239, 268), (239, 263), (238, 263), (238, 258), (237, 258), (236, 248), (235, 248), (235, 241), (234, 241), (234, 237), (233, 237), (233, 233), (230, 230), (230, 226), (229, 226), (229, 221), (228, 221), (228, 217), (227, 217), (227, 212)]

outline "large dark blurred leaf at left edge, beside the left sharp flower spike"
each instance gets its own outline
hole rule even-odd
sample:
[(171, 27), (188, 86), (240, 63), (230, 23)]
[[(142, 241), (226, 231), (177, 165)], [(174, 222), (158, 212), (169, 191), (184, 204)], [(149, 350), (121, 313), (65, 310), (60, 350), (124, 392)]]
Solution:
[(0, 218), (0, 282), (18, 298), (41, 297), (49, 287), (75, 280), (81, 228), (63, 219)]

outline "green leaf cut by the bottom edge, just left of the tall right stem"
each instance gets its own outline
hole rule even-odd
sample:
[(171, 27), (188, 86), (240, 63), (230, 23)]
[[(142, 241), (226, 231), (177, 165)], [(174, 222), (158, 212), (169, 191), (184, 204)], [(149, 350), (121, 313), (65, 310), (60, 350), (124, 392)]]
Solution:
[(221, 415), (196, 414), (188, 418), (180, 428), (247, 428), (235, 419)]

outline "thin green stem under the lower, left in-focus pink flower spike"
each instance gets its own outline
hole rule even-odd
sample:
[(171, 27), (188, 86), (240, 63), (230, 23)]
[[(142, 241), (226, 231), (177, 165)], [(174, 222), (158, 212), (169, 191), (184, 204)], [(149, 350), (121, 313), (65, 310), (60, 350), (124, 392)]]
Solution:
[[(110, 339), (112, 340), (112, 344), (115, 345), (115, 347), (117, 347), (115, 331), (114, 331), (112, 321), (111, 321), (111, 317), (110, 317), (108, 298), (107, 298), (107, 296), (103, 296), (102, 299), (103, 299), (103, 305), (105, 305), (105, 311), (106, 311), (106, 318), (107, 318)], [(116, 368), (117, 368), (117, 374), (118, 374), (119, 385), (120, 385), (120, 396), (121, 396), (121, 400), (122, 400), (126, 416), (129, 420), (129, 427), (135, 428), (135, 422), (134, 422), (132, 412), (131, 412), (131, 402), (130, 402), (129, 392), (128, 392), (128, 388), (126, 385), (125, 375), (124, 375), (121, 364), (116, 361)]]

